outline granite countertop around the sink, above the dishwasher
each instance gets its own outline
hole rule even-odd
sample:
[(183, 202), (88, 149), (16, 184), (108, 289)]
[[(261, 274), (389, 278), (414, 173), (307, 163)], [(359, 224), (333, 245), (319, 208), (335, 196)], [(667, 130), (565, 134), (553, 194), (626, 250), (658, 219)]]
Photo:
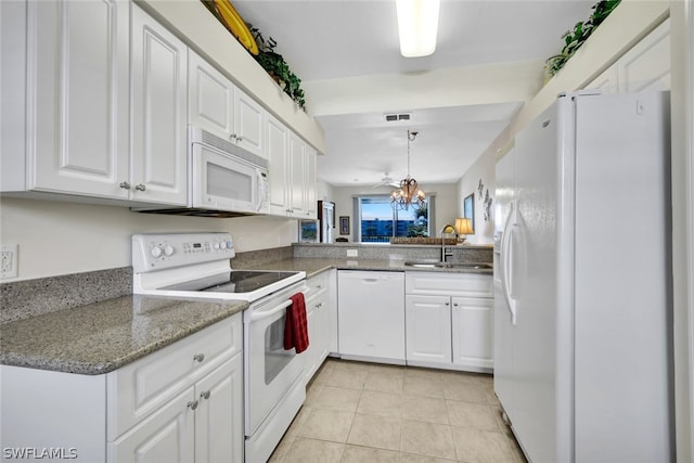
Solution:
[(413, 272), (444, 272), (444, 273), (493, 273), (492, 269), (470, 268), (439, 268), (439, 267), (410, 267), (402, 259), (320, 259), (311, 257), (294, 257), (292, 259), (277, 260), (265, 263), (252, 263), (232, 267), (237, 270), (279, 270), (279, 271), (305, 271), (306, 278), (311, 278), (320, 272), (337, 270), (374, 270), (374, 271), (413, 271)]

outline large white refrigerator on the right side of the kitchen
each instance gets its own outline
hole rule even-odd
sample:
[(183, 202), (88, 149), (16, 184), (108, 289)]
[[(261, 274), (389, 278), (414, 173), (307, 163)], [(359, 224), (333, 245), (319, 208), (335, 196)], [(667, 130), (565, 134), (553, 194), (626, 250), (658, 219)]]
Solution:
[(494, 391), (531, 463), (674, 461), (669, 93), (561, 95), (497, 164)]

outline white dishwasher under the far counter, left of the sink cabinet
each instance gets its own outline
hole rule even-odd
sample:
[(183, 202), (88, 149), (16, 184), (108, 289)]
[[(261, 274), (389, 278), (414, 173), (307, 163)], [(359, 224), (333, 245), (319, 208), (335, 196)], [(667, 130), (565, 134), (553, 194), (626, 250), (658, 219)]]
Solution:
[(337, 272), (339, 353), (404, 364), (404, 273)]

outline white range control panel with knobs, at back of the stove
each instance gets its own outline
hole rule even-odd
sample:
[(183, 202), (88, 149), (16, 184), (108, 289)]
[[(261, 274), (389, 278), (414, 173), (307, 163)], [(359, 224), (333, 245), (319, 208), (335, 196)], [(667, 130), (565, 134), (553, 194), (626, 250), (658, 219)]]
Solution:
[(231, 259), (236, 255), (229, 233), (133, 234), (136, 273)]

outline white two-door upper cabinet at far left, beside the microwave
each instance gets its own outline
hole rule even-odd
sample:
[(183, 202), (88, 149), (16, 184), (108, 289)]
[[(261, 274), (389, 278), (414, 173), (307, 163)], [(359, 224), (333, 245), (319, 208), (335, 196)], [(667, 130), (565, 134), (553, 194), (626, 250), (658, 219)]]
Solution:
[(2, 191), (185, 204), (187, 47), (128, 1), (2, 9), (26, 42), (2, 49), (3, 101), (26, 104), (2, 113)]

